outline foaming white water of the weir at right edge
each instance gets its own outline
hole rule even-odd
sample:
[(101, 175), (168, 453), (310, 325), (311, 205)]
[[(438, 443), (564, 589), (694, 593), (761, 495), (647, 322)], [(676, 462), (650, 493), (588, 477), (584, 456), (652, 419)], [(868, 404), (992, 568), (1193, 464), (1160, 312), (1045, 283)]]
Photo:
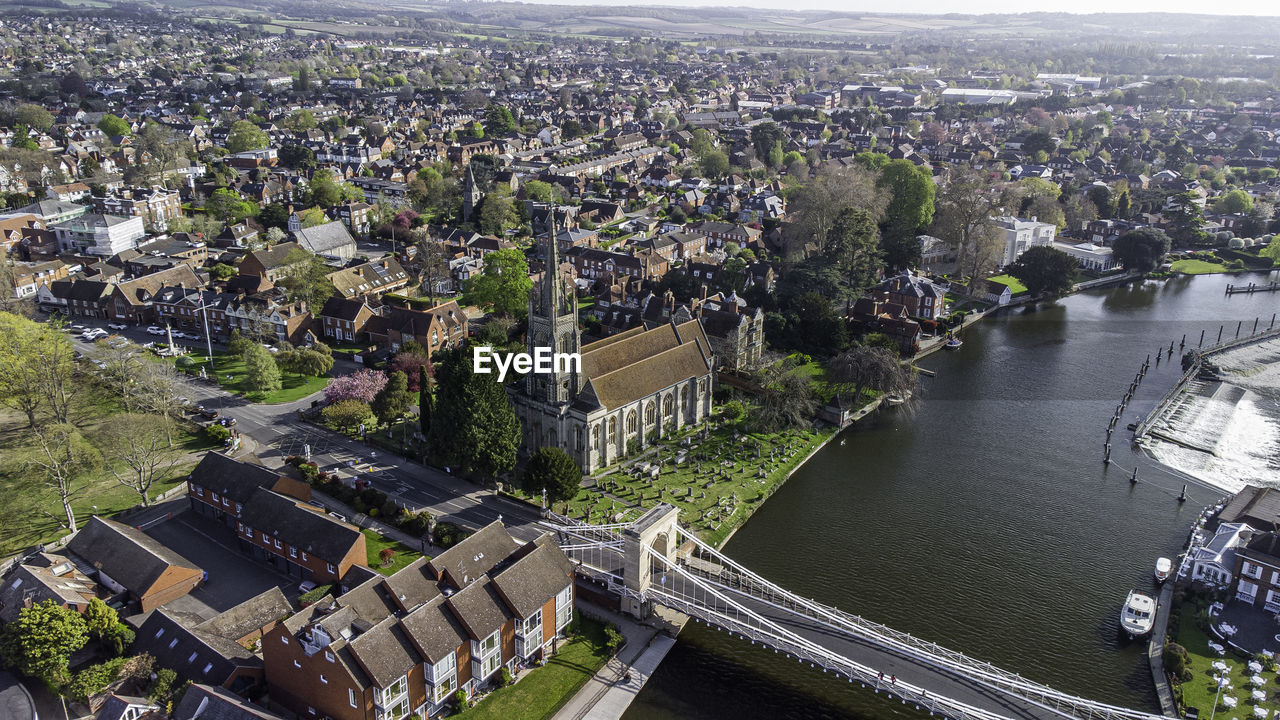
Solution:
[(1160, 462), (1228, 492), (1245, 484), (1280, 487), (1280, 340), (1212, 361), (1226, 380), (1193, 382), (1156, 428), (1211, 452), (1160, 438), (1151, 438), (1148, 450)]

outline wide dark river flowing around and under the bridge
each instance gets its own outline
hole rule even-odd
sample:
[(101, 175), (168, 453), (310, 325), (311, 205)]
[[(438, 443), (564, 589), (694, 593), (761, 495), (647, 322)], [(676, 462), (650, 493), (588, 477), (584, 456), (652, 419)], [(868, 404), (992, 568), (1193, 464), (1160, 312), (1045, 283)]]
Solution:
[[(1261, 279), (1249, 278), (1249, 279)], [(1222, 293), (1222, 275), (1148, 281), (1006, 310), (964, 347), (922, 363), (914, 414), (884, 411), (801, 468), (726, 546), (818, 601), (988, 660), (1057, 689), (1158, 711), (1144, 643), (1117, 638), (1132, 588), (1149, 588), (1199, 510), (1224, 493), (1129, 447), (1124, 425), (1220, 325), (1262, 327), (1280, 295)], [(1239, 282), (1234, 279), (1231, 282)], [(1152, 365), (1102, 464), (1105, 430), (1143, 359)], [(1155, 359), (1153, 359), (1155, 361)], [(1129, 473), (1138, 469), (1138, 483)], [(887, 717), (904, 706), (741, 639), (690, 625), (625, 717)], [(911, 715), (916, 715), (913, 710)]]

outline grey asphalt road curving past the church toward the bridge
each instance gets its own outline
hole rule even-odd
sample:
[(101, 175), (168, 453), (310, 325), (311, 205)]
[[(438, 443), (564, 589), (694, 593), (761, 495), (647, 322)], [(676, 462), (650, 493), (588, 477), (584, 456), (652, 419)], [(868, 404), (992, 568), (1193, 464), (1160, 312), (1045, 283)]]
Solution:
[[(86, 327), (108, 329), (100, 322), (84, 319), (76, 322)], [(155, 340), (140, 327), (115, 331), (115, 334), (137, 343)], [(184, 342), (197, 345), (193, 340)], [(95, 343), (83, 342), (78, 336), (73, 337), (73, 345), (86, 355), (95, 347)], [(204, 341), (198, 341), (198, 345), (202, 347)], [(223, 346), (214, 343), (214, 347)], [(358, 368), (358, 364), (340, 357), (335, 359), (333, 372), (344, 374)], [(399, 505), (415, 511), (426, 510), (436, 520), (480, 528), (500, 518), (515, 537), (526, 541), (536, 538), (543, 532), (538, 527), (538, 511), (524, 503), (500, 497), (493, 491), (480, 489), (442, 470), (379, 452), (360, 441), (301, 420), (298, 411), (311, 407), (311, 402), (319, 400), (320, 393), (294, 402), (261, 405), (224, 392), (211, 382), (188, 378), (183, 378), (182, 382), (186, 386), (183, 396), (192, 402), (218, 410), (223, 418), (236, 419), (236, 429), (250, 438), (251, 442), (246, 446), (250, 446), (264, 465), (280, 468), (285, 457), (302, 455), (305, 447), (310, 446), (311, 459), (321, 470), (340, 469), (346, 475), (358, 474)], [(348, 468), (348, 462), (356, 462), (356, 468)]]

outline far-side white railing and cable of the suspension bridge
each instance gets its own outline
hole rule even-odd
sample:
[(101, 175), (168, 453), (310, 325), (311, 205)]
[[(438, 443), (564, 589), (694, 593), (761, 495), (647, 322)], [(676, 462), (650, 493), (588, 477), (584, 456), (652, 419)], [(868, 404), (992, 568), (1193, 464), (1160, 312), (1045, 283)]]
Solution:
[[(710, 562), (694, 556), (686, 561), (690, 569), (695, 573), (704, 573), (708, 575), (708, 579), (713, 579), (718, 584), (774, 607), (812, 618), (836, 629), (874, 642), (900, 655), (916, 659), (964, 678), (982, 682), (1064, 715), (1084, 720), (1156, 720), (1161, 717), (1160, 715), (1107, 705), (1056, 691), (934, 642), (923, 641), (909, 633), (895, 630), (865, 618), (800, 597), (726, 557), (692, 533), (684, 529), (681, 532), (687, 539), (694, 542), (699, 555), (714, 559), (714, 562)], [(703, 565), (701, 568), (699, 568), (700, 564)], [(719, 565), (718, 569), (717, 565)]]

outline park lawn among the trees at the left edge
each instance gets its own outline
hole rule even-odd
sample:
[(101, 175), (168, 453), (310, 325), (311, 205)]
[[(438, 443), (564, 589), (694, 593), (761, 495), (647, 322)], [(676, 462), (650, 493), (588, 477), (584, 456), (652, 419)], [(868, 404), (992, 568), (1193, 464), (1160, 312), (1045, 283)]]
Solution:
[[(93, 386), (90, 375), (76, 382), (70, 424), (95, 447), (97, 433), (120, 413), (104, 388)], [(179, 421), (174, 428), (174, 442), (187, 454), (198, 454), (214, 447), (195, 425)], [(0, 556), (13, 555), (37, 543), (58, 539), (67, 530), (61, 502), (55, 491), (44, 483), (38, 469), (28, 466), (40, 450), (27, 429), (27, 418), (10, 409), (0, 409)], [(189, 460), (189, 461), (188, 461)], [(168, 462), (166, 462), (168, 464)], [(195, 457), (180, 460), (150, 491), (155, 497), (187, 479), (195, 466)], [(124, 470), (124, 468), (120, 468)], [(77, 478), (72, 507), (76, 520), (83, 525), (90, 515), (113, 515), (138, 505), (142, 498), (133, 489), (116, 482), (105, 465)]]

